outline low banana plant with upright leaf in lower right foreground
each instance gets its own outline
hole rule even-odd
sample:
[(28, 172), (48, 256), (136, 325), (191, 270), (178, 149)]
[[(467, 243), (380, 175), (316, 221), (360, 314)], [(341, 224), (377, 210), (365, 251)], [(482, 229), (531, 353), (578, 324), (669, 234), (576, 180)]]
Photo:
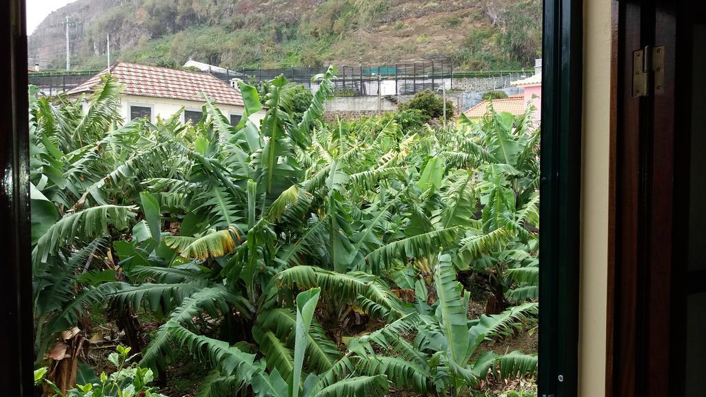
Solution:
[(349, 340), (341, 359), (349, 362), (349, 372), (385, 375), (396, 387), (418, 393), (459, 396), (489, 376), (521, 377), (537, 371), (537, 356), (520, 351), (503, 355), (485, 352), (471, 360), (484, 340), (509, 336), (521, 321), (535, 316), (536, 303), (468, 319), (468, 294), (456, 281), (450, 254), (438, 259), (434, 284), (438, 300), (431, 306), (426, 304), (425, 284), (419, 283), (424, 291), (418, 292), (418, 299), (426, 309)]

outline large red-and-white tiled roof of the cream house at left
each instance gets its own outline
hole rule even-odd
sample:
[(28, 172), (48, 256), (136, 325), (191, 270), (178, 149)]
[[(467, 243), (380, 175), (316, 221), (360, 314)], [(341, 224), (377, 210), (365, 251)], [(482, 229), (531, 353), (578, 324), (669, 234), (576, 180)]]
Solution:
[(127, 62), (112, 64), (109, 69), (104, 69), (87, 81), (68, 90), (66, 94), (92, 91), (95, 85), (100, 83), (100, 76), (106, 73), (111, 73), (125, 85), (123, 93), (126, 95), (203, 102), (201, 93), (205, 93), (216, 103), (244, 105), (239, 90), (208, 73), (128, 64)]

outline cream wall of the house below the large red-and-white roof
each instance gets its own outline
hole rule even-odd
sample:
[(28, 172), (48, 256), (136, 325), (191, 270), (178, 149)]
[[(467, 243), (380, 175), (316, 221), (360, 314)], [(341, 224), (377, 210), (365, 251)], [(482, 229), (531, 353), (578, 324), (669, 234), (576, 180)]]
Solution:
[[(172, 116), (184, 107), (186, 110), (201, 110), (203, 102), (196, 102), (190, 100), (175, 100), (171, 98), (158, 98), (158, 97), (140, 97), (136, 95), (122, 95), (121, 96), (121, 116), (124, 120), (130, 119), (130, 105), (137, 106), (150, 106), (152, 107), (152, 122), (155, 121), (155, 117), (159, 115), (162, 119)], [(227, 118), (230, 114), (243, 114), (244, 107), (235, 105), (224, 105), (217, 103), (216, 106), (223, 115)], [(265, 116), (264, 112), (253, 115), (255, 119), (262, 119)], [(182, 120), (183, 120), (182, 116)]]

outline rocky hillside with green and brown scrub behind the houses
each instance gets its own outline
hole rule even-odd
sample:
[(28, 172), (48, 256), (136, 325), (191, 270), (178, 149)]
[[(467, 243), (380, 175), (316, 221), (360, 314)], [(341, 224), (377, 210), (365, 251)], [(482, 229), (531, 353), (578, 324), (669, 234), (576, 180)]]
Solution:
[(542, 36), (540, 0), (77, 0), (29, 38), (29, 63), (112, 61), (230, 68), (390, 64), (453, 59), (467, 69), (532, 65)]

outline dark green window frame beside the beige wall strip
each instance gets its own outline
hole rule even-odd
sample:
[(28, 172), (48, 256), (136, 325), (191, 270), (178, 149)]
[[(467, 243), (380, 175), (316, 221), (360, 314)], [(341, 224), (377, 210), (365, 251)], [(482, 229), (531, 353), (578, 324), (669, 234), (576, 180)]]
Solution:
[(544, 0), (537, 377), (542, 397), (578, 393), (582, 11), (580, 0)]

